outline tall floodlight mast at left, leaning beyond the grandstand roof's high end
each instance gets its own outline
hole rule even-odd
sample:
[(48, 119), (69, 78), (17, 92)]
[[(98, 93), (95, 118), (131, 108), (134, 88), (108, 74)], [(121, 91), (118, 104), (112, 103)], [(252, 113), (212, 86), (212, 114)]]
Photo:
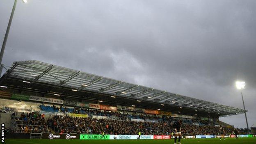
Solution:
[[(27, 0), (22, 0), (22, 1), (24, 3), (27, 3)], [(14, 15), (16, 4), (17, 4), (17, 0), (14, 0), (14, 6), (12, 7), (11, 16), (10, 16), (9, 23), (8, 23), (8, 26), (7, 26), (7, 29), (6, 29), (6, 32), (5, 32), (5, 38), (4, 38), (4, 41), (2, 43), (2, 48), (1, 48), (1, 52), (0, 52), (0, 65), (1, 65), (0, 66), (0, 76), (2, 74), (2, 58), (3, 58), (4, 52), (5, 52), (5, 45), (6, 45), (6, 42), (7, 42), (9, 30), (10, 30), (10, 27), (11, 27), (11, 21), (12, 21), (13, 15)]]

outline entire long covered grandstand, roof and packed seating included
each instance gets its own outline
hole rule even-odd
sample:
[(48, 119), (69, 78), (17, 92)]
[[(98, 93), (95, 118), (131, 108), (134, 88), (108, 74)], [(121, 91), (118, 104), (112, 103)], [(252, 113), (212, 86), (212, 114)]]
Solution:
[(178, 119), (184, 138), (218, 137), (220, 125), (234, 137), (219, 117), (245, 112), (34, 60), (14, 62), (0, 88), (8, 138), (137, 139), (141, 132), (141, 139), (169, 139)]

